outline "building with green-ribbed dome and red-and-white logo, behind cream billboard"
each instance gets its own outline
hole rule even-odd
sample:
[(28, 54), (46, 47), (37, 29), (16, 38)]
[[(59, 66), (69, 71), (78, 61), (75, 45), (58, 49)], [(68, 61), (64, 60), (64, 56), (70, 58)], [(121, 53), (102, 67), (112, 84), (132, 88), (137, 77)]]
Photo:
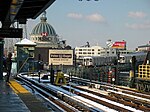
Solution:
[[(41, 20), (40, 23), (38, 23), (33, 28), (30, 34), (30, 40), (36, 43), (35, 59), (41, 60), (44, 63), (48, 63), (50, 65), (49, 63), (51, 62), (50, 52), (55, 51), (55, 56), (56, 55), (59, 56), (59, 54), (57, 53), (57, 51), (59, 50), (58, 52), (61, 53), (60, 55), (62, 56), (63, 52), (66, 53), (66, 51), (68, 50), (68, 47), (66, 46), (66, 41), (60, 40), (55, 29), (49, 23), (47, 23), (46, 12), (42, 14), (40, 20)], [(71, 48), (69, 48), (69, 50), (70, 49)], [(70, 52), (71, 51), (69, 51), (69, 53)], [(73, 53), (71, 53), (71, 55), (73, 55)]]

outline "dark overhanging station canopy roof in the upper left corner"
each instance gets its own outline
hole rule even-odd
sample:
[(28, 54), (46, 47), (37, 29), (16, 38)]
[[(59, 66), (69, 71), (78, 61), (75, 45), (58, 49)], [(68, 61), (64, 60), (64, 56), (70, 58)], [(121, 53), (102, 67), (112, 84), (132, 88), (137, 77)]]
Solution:
[(26, 24), (27, 19), (36, 19), (55, 0), (0, 0), (0, 21), (3, 28), (18, 21)]

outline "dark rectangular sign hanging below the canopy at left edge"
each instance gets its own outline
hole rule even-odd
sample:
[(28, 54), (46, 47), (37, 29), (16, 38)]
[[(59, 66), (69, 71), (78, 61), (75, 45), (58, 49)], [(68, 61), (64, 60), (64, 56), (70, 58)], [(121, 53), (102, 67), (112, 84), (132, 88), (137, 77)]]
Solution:
[(22, 38), (22, 28), (0, 28), (0, 38)]

